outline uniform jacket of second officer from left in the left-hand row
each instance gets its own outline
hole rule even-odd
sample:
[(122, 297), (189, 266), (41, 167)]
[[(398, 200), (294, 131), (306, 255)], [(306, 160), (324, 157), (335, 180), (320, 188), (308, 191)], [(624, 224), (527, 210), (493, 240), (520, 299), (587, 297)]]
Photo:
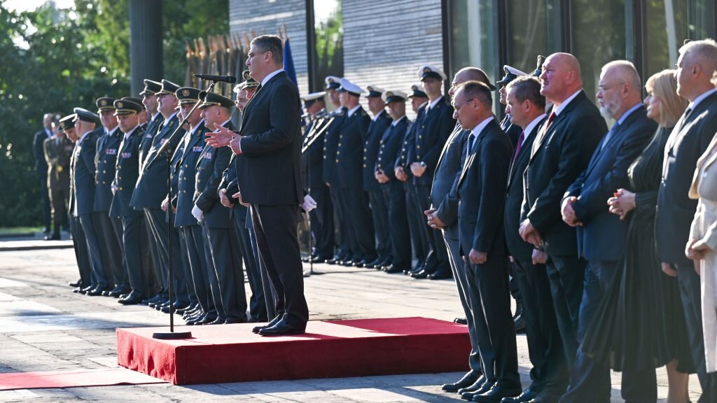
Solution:
[(102, 130), (90, 131), (78, 141), (72, 153), (72, 176), (75, 189), (75, 217), (91, 214), (95, 206), (95, 153)]

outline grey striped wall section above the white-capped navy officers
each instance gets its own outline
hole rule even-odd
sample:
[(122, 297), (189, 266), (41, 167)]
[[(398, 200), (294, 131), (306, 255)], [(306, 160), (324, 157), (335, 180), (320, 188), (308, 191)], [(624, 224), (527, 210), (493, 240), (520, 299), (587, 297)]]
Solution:
[(408, 92), (420, 66), (443, 69), (440, 0), (343, 0), (342, 14), (343, 71), (354, 84)]

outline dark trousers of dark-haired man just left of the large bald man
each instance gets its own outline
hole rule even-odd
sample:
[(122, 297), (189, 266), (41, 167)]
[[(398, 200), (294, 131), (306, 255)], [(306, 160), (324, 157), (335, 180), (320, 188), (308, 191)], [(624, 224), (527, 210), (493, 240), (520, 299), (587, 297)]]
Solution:
[(526, 323), (531, 381), (536, 391), (564, 392), (568, 373), (560, 332), (555, 318), (550, 281), (545, 265), (532, 260), (513, 262), (513, 280), (523, 295), (523, 320)]

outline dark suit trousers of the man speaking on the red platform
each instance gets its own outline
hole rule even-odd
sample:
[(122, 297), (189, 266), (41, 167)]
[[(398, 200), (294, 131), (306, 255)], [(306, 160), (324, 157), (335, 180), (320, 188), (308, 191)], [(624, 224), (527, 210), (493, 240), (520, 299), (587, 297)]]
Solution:
[(284, 312), (289, 323), (303, 325), (309, 319), (309, 310), (304, 298), (303, 267), (296, 232), (298, 209), (291, 204), (252, 204), (251, 212), (257, 248), (277, 294), (276, 311)]

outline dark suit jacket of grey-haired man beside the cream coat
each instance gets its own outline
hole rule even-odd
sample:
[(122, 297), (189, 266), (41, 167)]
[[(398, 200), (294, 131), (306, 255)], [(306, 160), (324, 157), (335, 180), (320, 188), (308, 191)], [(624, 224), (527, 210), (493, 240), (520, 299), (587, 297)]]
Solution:
[(660, 261), (692, 265), (685, 257), (697, 200), (688, 197), (697, 160), (717, 132), (717, 94), (709, 95), (680, 119), (665, 145), (663, 181), (657, 196), (657, 256)]

